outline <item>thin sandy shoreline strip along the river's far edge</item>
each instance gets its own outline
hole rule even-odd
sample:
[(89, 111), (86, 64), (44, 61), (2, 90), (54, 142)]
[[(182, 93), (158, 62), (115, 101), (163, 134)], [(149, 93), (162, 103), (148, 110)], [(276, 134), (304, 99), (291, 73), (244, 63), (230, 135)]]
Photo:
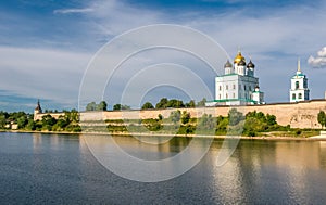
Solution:
[(67, 131), (28, 131), (28, 130), (0, 130), (0, 132), (18, 132), (18, 133), (45, 133), (45, 134), (97, 134), (97, 136), (138, 136), (138, 137), (186, 137), (186, 138), (214, 138), (214, 139), (240, 139), (240, 140), (296, 140), (296, 141), (326, 141), (325, 137), (243, 137), (243, 136), (203, 136), (203, 134), (163, 134), (163, 133), (103, 133), (103, 132), (67, 132)]

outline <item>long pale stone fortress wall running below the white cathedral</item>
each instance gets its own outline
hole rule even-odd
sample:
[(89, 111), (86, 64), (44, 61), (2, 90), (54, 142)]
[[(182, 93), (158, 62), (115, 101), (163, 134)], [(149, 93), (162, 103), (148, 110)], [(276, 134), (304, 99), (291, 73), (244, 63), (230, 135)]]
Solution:
[[(276, 120), (279, 125), (290, 125), (292, 128), (321, 128), (317, 121), (317, 115), (319, 111), (326, 111), (326, 100), (313, 100), (300, 103), (278, 103), (266, 105), (248, 105), (248, 106), (218, 106), (218, 107), (196, 107), (196, 108), (178, 108), (181, 112), (187, 111), (192, 117), (201, 117), (204, 113), (212, 116), (227, 116), (230, 108), (237, 108), (239, 112), (247, 114), (248, 112), (263, 112), (264, 114), (271, 114), (276, 116)], [(147, 110), (147, 111), (108, 111), (108, 112), (83, 112), (80, 113), (82, 120), (105, 120), (105, 119), (145, 119), (145, 118), (158, 118), (161, 114), (164, 118), (167, 118), (171, 112), (177, 108), (166, 110)], [(37, 118), (41, 119), (41, 116), (46, 114), (38, 114)], [(59, 115), (51, 114), (54, 117)]]

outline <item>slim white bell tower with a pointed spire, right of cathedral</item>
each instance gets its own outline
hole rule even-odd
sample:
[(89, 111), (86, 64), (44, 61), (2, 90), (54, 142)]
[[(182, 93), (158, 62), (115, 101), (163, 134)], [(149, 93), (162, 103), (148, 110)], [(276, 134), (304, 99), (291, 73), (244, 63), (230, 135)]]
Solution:
[(291, 78), (290, 102), (308, 101), (309, 100), (308, 78), (300, 68), (300, 60), (298, 60), (298, 69)]

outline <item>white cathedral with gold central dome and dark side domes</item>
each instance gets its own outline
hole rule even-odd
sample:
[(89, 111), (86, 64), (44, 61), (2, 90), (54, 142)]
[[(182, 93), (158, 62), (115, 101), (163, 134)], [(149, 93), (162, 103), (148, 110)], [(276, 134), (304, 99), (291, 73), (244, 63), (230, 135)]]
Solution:
[(234, 65), (227, 61), (224, 75), (215, 78), (215, 100), (206, 103), (215, 105), (264, 104), (264, 93), (260, 91), (259, 78), (254, 77), (254, 64), (239, 51)]

